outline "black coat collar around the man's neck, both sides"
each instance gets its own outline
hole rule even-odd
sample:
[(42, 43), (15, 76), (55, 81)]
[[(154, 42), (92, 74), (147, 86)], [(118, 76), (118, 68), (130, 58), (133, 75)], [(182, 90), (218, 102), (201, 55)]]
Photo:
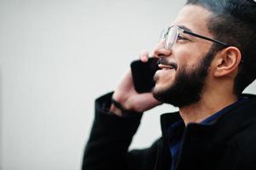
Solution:
[[(217, 122), (207, 125), (190, 123), (185, 127), (185, 133), (190, 133), (190, 135), (196, 138), (212, 138), (214, 134), (217, 133), (217, 139), (221, 139), (236, 133), (237, 130), (246, 127), (253, 122), (256, 122), (256, 95), (242, 94), (242, 97), (247, 97), (247, 99), (233, 107), (225, 115), (220, 116)], [(161, 116), (162, 136), (164, 137), (166, 135), (165, 131), (171, 124), (179, 120), (181, 120), (179, 112), (163, 114)], [(223, 135), (219, 136), (220, 132)]]

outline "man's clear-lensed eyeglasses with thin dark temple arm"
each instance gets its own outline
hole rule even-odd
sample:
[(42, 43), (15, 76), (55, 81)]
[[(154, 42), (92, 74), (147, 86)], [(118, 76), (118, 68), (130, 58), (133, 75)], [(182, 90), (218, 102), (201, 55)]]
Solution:
[(230, 46), (230, 45), (228, 45), (225, 42), (220, 42), (218, 40), (214, 40), (214, 39), (209, 38), (209, 37), (201, 36), (201, 35), (196, 34), (194, 32), (182, 29), (179, 26), (170, 26), (170, 27), (164, 29), (162, 31), (162, 34), (161, 34), (161, 40), (163, 40), (165, 42), (164, 47), (167, 48), (167, 49), (172, 48), (174, 46), (174, 43), (177, 42), (178, 37), (180, 37), (179, 36), (180, 33), (189, 34), (191, 36), (199, 37), (199, 38), (208, 40), (210, 42), (216, 42), (216, 43), (219, 43), (220, 45), (223, 45), (225, 47), (229, 47)]

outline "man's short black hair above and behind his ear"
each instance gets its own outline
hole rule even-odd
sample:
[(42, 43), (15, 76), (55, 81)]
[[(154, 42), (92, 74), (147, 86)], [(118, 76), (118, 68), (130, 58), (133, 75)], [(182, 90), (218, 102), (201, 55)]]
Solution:
[[(234, 82), (239, 96), (255, 80), (256, 71), (256, 2), (253, 0), (187, 0), (186, 5), (207, 8), (212, 15), (208, 30), (215, 39), (239, 48), (242, 64)], [(216, 50), (221, 49), (214, 44)]]

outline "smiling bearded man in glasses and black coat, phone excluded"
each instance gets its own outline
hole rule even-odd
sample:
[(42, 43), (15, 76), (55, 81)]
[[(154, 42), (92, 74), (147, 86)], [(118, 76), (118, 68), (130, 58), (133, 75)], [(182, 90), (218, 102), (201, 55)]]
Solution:
[[(253, 0), (188, 0), (153, 51), (152, 92), (138, 94), (128, 71), (96, 100), (82, 169), (256, 169), (256, 98), (242, 94), (256, 76), (255, 21)], [(142, 112), (161, 103), (179, 107), (162, 115), (162, 138), (128, 151)]]

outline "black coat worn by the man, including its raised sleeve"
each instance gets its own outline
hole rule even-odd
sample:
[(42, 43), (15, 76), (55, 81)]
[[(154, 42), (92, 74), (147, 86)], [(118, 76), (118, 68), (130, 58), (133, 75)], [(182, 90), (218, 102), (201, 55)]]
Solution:
[[(217, 122), (188, 124), (175, 169), (256, 170), (256, 97), (247, 97)], [(169, 170), (167, 129), (180, 119), (179, 113), (161, 116), (162, 138), (150, 148), (128, 151), (142, 114), (124, 118), (110, 114), (110, 99), (106, 94), (96, 100), (82, 170)]]

